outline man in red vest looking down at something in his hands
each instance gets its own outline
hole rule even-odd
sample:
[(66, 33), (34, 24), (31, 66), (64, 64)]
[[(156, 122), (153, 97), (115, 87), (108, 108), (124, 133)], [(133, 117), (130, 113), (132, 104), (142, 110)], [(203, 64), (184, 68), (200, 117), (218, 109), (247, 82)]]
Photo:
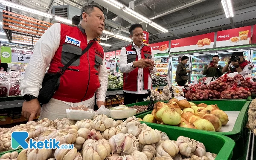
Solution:
[(120, 55), (125, 105), (142, 102), (147, 98), (147, 89), (152, 89), (150, 73), (156, 72), (152, 49), (143, 44), (143, 27), (138, 23), (133, 24), (129, 32), (133, 43), (123, 47)]

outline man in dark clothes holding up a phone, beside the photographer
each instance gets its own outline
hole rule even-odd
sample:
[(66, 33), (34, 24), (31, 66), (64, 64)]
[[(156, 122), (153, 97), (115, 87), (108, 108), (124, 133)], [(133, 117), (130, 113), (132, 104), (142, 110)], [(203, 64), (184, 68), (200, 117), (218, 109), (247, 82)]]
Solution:
[(221, 65), (218, 64), (220, 61), (220, 56), (219, 55), (213, 55), (212, 56), (212, 63), (209, 65), (206, 65), (204, 67), (204, 72), (203, 74), (206, 75), (206, 77), (212, 77), (212, 80), (214, 77), (221, 77), (223, 75)]

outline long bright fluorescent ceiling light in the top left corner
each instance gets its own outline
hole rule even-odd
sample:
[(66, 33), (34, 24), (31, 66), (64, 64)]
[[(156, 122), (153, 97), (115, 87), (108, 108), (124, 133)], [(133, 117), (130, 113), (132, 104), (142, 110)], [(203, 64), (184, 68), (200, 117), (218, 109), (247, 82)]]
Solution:
[(20, 10), (23, 10), (23, 11), (26, 11), (26, 12), (34, 13), (36, 15), (41, 15), (41, 16), (44, 16), (44, 17), (52, 18), (52, 15), (49, 14), (49, 13), (41, 12), (41, 11), (38, 11), (38, 10), (35, 10), (35, 9), (31, 9), (29, 7), (22, 6), (22, 5), (19, 5), (17, 3), (7, 1), (7, 0), (0, 0), (0, 3), (2, 3), (5, 6), (15, 8), (15, 9), (20, 9)]

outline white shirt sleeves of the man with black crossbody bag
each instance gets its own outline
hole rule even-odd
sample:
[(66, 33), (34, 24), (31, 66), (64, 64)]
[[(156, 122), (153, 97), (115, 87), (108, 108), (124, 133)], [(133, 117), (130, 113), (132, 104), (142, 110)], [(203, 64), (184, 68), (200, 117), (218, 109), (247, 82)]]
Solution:
[[(20, 90), (24, 90), (24, 94), (31, 94), (38, 97), (39, 90), (42, 88), (42, 81), (47, 67), (52, 61), (61, 41), (61, 24), (53, 24), (42, 35), (35, 44), (33, 55), (26, 67), (24, 80), (20, 83)], [(105, 53), (104, 53), (105, 55)], [(96, 91), (97, 101), (105, 102), (106, 91), (108, 89), (108, 74), (105, 65), (105, 56), (103, 65), (99, 66), (99, 83), (101, 86)], [(90, 104), (94, 101), (94, 96), (86, 101)], [(69, 103), (69, 102), (67, 102)]]

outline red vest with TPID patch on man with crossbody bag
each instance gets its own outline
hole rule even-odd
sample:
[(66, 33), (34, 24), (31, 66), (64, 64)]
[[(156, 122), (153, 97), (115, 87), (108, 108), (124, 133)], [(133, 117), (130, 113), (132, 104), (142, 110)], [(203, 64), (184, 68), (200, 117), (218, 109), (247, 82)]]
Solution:
[[(93, 97), (100, 87), (98, 69), (103, 63), (104, 50), (95, 40), (94, 44), (61, 75), (60, 85), (52, 98), (77, 103)], [(60, 46), (55, 52), (48, 73), (56, 73), (75, 55), (87, 47), (87, 36), (79, 26), (61, 24)]]

